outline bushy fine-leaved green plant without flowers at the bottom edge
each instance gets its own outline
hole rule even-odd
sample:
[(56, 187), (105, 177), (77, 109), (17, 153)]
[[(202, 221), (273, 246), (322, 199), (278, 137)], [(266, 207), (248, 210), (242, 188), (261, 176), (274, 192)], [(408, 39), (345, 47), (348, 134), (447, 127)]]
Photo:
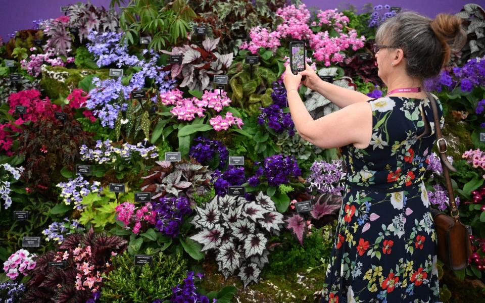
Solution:
[(100, 302), (152, 302), (169, 298), (172, 287), (182, 283), (187, 262), (182, 255), (155, 254), (148, 248), (146, 255), (153, 255), (153, 265), (135, 266), (127, 251), (113, 258), (113, 271), (103, 275), (103, 295)]

